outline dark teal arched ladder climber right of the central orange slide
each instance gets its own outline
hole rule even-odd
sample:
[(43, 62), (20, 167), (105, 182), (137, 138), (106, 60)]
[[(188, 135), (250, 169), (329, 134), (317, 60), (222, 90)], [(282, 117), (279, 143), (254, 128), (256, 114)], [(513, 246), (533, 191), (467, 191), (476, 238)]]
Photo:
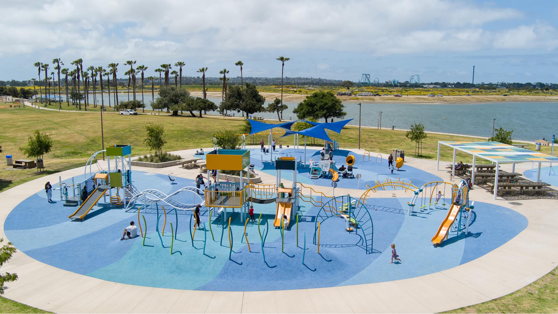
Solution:
[[(331, 207), (331, 205), (335, 206), (337, 202), (341, 202), (341, 207), (339, 207), (337, 212), (324, 210), (325, 207)], [(366, 254), (373, 253), (374, 223), (372, 221), (372, 216), (362, 202), (350, 195), (344, 195), (334, 197), (325, 203), (316, 215), (314, 225), (314, 244), (317, 244), (316, 233), (318, 232), (319, 224), (323, 224), (325, 220), (328, 220), (331, 217), (345, 218), (349, 228), (350, 226), (354, 226), (355, 235), (358, 235), (359, 230), (362, 232), (362, 235), (359, 236), (359, 240), (355, 244), (348, 244), (345, 246), (359, 246), (366, 251)]]

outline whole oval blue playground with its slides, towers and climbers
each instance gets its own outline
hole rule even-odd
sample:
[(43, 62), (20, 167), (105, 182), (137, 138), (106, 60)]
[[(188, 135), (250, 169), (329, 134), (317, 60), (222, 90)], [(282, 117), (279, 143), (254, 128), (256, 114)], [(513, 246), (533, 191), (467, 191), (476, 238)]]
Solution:
[[(472, 265), (502, 252), (530, 225), (530, 214), (465, 180), (446, 182), (432, 163), (403, 161), (397, 151), (342, 149), (335, 141), (324, 145), (328, 158), (299, 141), (295, 135), (292, 146), (275, 151), (271, 141), (266, 151), (245, 142), (237, 150), (204, 148), (205, 155), (182, 151), (204, 159), (200, 188), (197, 169), (132, 169), (131, 146), (108, 146), (84, 167), (51, 179), (52, 202), (39, 188), (19, 200), (4, 234), (28, 258), (84, 278), (240, 293), (391, 283), (454, 269), (475, 277)], [(213, 179), (224, 170), (240, 176)], [(121, 239), (131, 221), (136, 232)], [(392, 259), (392, 244), (400, 260)], [(8, 297), (25, 301), (21, 289)]]

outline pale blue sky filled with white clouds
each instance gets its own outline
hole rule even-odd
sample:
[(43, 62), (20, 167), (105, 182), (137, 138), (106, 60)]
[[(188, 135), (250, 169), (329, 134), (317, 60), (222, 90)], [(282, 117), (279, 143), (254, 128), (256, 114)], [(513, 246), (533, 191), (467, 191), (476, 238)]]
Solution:
[(557, 1), (4, 1), (0, 80), (54, 58), (280, 77), (285, 56), (287, 77), (557, 83), (557, 29)]

